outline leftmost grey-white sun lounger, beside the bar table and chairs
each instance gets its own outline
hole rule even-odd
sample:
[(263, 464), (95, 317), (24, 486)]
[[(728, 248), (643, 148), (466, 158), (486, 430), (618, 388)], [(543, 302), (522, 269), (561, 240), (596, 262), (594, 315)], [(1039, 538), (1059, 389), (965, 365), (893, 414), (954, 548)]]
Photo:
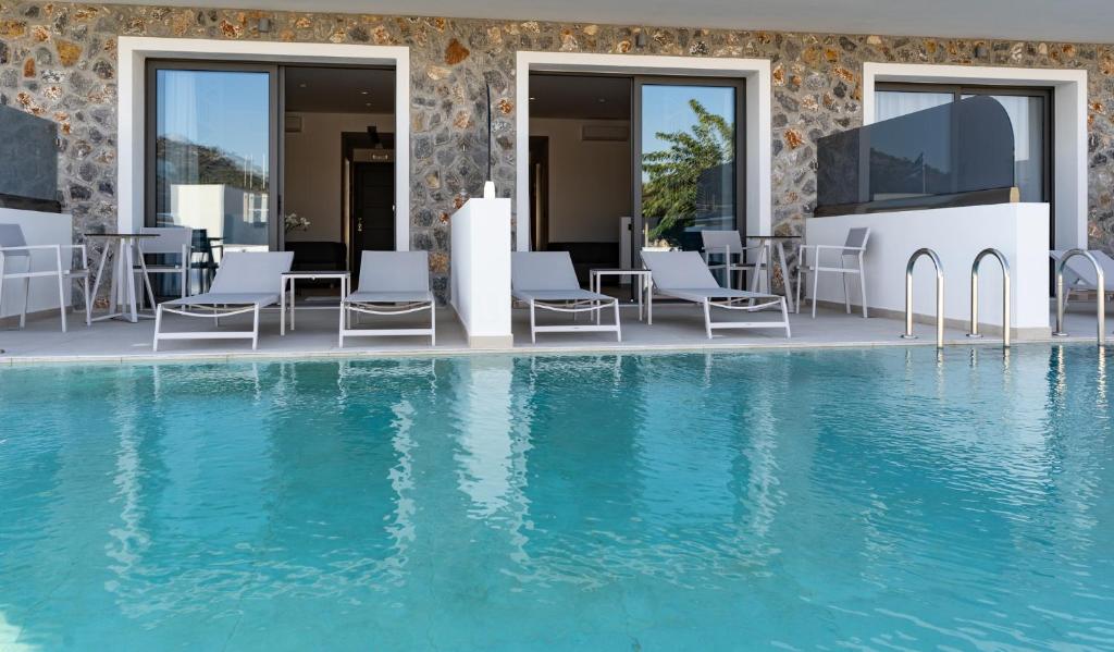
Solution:
[[(260, 342), (260, 310), (281, 301), (282, 274), (290, 271), (294, 252), (229, 252), (221, 261), (208, 292), (158, 304), (155, 312), (155, 344), (159, 340), (252, 340)], [(180, 331), (163, 332), (163, 313), (212, 319), (221, 325), (222, 317), (251, 312), (250, 331)]]

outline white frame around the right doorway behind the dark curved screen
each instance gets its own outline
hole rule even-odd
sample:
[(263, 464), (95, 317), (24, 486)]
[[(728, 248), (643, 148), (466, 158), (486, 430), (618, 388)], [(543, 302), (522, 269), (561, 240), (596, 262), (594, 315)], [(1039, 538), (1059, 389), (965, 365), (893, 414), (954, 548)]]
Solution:
[(1056, 249), (1087, 247), (1087, 71), (1054, 68), (862, 65), (862, 123), (874, 123), (874, 84), (970, 84), (1034, 86), (1053, 91)]

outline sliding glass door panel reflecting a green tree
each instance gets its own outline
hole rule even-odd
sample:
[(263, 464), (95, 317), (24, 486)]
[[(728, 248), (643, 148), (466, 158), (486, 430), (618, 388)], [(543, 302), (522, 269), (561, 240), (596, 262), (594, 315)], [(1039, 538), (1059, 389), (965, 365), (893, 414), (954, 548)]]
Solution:
[(742, 82), (636, 78), (634, 96), (635, 254), (698, 250), (704, 230), (745, 231)]

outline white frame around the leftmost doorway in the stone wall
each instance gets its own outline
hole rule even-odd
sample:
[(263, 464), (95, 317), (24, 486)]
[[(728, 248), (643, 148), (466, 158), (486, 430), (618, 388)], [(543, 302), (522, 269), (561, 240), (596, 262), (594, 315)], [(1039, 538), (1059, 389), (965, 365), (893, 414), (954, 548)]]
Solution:
[[(410, 249), (410, 49), (402, 46), (284, 43), (120, 37), (117, 99), (117, 227), (144, 224), (147, 59), (391, 66), (394, 68), (394, 249)], [(281, 137), (281, 135), (280, 135)]]

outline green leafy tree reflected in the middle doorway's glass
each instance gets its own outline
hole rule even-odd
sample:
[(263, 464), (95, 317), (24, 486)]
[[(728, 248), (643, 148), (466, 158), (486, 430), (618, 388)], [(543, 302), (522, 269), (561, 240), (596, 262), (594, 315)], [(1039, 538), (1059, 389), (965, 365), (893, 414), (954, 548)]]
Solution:
[(696, 114), (692, 129), (658, 132), (655, 136), (666, 146), (642, 156), (643, 215), (661, 220), (649, 233), (651, 241), (680, 240), (684, 230), (696, 223), (700, 213), (714, 207), (715, 200), (701, 192), (704, 182), (713, 176), (715, 168), (734, 166), (734, 125), (709, 111), (700, 100), (690, 99), (688, 106)]

